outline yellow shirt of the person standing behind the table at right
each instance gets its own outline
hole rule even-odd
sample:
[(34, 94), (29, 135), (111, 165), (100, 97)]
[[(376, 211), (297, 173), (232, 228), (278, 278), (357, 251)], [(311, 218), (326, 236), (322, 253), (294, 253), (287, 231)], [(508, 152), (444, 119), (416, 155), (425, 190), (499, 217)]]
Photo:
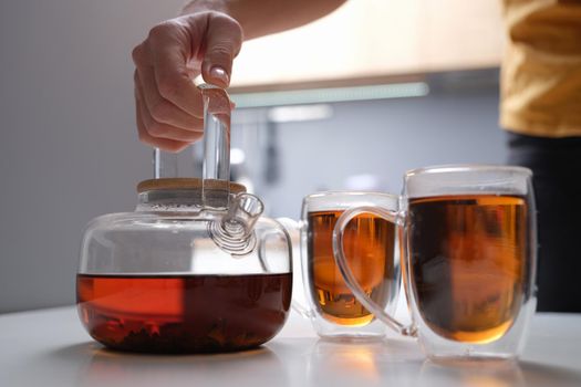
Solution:
[(500, 125), (581, 136), (581, 0), (504, 0)]

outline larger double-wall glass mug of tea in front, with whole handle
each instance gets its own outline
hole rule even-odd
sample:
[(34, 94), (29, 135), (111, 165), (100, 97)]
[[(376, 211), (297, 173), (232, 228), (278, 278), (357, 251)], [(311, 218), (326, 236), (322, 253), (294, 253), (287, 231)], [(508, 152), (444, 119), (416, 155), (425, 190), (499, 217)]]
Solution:
[[(515, 358), (536, 307), (536, 210), (531, 171), (457, 165), (408, 171), (400, 211), (362, 206), (338, 220), (333, 248), (357, 300), (395, 331), (442, 358)], [(412, 324), (369, 296), (346, 257), (353, 218), (398, 226)]]

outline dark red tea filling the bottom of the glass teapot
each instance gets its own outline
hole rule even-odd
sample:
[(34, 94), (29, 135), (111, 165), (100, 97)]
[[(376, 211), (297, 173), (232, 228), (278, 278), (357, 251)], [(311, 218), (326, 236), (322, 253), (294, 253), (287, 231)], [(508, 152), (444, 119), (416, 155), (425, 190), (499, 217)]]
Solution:
[(263, 344), (280, 331), (292, 274), (79, 274), (76, 286), (83, 324), (111, 348), (228, 352)]

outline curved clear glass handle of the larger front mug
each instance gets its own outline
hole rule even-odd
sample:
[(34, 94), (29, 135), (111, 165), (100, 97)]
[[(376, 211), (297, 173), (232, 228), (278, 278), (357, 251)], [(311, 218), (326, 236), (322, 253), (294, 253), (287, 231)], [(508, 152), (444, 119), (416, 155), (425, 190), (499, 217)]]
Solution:
[[(361, 287), (357, 280), (355, 279), (355, 275), (351, 271), (351, 268), (349, 266), (343, 249), (343, 236), (345, 228), (351, 222), (351, 220), (362, 213), (377, 216), (391, 223), (394, 223), (395, 226), (398, 226), (398, 219), (401, 219), (401, 213), (397, 211), (386, 210), (377, 206), (356, 207), (344, 211), (338, 219), (333, 230), (333, 257), (335, 259), (336, 265), (339, 266), (339, 270), (343, 275), (343, 280), (345, 281), (347, 287), (351, 290), (351, 292), (353, 292), (357, 301), (361, 302), (361, 304), (365, 306), (367, 311), (373, 313), (375, 317), (377, 317), (395, 332), (398, 332), (404, 336), (417, 337), (416, 326), (413, 323), (411, 325), (405, 325), (398, 322), (395, 320), (395, 317), (386, 313), (383, 307), (377, 305), (377, 303), (375, 303), (375, 301), (373, 301), (365, 293), (363, 287)], [(401, 260), (403, 264), (405, 264), (406, 257), (402, 257)]]

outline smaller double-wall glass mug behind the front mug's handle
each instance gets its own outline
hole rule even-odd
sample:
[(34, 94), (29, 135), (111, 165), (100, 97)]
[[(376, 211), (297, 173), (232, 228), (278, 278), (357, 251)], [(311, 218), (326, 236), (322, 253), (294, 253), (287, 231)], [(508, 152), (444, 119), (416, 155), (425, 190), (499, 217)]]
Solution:
[[(347, 287), (333, 257), (332, 232), (349, 208), (380, 206), (397, 211), (397, 196), (374, 192), (329, 191), (305, 197), (300, 233), (300, 266), (308, 305), (293, 306), (311, 320), (317, 333), (331, 339), (374, 339), (385, 326)], [(287, 224), (288, 226), (288, 224)], [(288, 226), (289, 229), (292, 228)], [(345, 260), (363, 292), (393, 312), (400, 289), (396, 230), (381, 217), (364, 213), (345, 224)]]

